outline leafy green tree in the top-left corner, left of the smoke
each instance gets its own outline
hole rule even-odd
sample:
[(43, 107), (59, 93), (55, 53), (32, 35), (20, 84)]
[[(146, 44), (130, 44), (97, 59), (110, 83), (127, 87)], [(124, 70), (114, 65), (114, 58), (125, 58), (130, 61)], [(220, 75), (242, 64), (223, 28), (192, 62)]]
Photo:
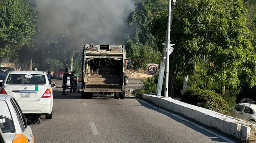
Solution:
[(36, 34), (36, 12), (30, 0), (1, 1), (0, 59), (10, 59), (22, 46), (32, 46)]

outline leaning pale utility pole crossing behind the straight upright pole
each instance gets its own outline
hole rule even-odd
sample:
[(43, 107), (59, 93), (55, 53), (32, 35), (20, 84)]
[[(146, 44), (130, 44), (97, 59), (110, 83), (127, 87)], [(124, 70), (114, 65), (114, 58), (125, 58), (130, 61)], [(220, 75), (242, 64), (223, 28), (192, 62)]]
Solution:
[[(176, 0), (173, 0), (173, 8), (171, 8), (171, 11), (173, 12), (174, 6), (175, 6)], [(169, 2), (169, 7), (171, 7), (171, 3)], [(172, 19), (173, 16), (171, 15), (171, 19), (170, 19), (170, 27), (172, 25)], [(169, 21), (169, 20), (168, 20)], [(170, 32), (169, 32), (170, 34)], [(166, 53), (167, 53), (167, 36), (168, 35), (168, 28), (166, 29), (166, 34), (165, 34), (165, 44), (164, 45), (164, 51), (163, 51), (163, 56), (162, 56), (162, 60), (161, 60), (161, 64), (160, 64), (160, 71), (159, 71), (159, 76), (158, 76), (158, 82), (157, 82), (157, 88), (156, 88), (156, 95), (157, 96), (161, 96), (161, 92), (162, 92), (162, 85), (163, 85), (163, 79), (164, 79), (164, 74), (165, 74), (165, 64), (166, 64)], [(170, 53), (172, 53), (173, 48), (171, 47), (171, 51)], [(169, 53), (169, 54), (170, 54)], [(169, 56), (169, 55), (168, 55)]]

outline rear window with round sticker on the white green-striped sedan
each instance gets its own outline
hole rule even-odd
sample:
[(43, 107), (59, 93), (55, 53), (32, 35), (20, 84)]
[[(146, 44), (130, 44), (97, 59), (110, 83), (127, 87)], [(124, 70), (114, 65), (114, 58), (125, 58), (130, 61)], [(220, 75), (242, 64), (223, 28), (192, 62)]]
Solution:
[(10, 85), (45, 85), (44, 75), (36, 74), (13, 74), (9, 75), (6, 84)]

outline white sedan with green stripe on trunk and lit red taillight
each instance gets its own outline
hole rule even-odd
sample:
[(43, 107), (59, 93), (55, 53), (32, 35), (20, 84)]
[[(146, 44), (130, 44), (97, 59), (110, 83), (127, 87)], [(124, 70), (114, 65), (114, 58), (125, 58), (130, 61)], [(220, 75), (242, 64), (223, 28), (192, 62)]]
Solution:
[(52, 119), (52, 87), (56, 84), (49, 84), (46, 72), (11, 71), (0, 93), (15, 98), (24, 114), (45, 114)]

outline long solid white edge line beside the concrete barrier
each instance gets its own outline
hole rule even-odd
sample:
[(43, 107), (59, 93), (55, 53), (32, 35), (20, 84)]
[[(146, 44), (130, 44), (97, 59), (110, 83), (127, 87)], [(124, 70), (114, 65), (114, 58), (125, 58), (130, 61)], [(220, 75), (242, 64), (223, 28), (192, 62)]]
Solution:
[[(137, 100), (140, 100), (140, 99), (137, 99)], [(160, 109), (160, 108), (157, 108), (156, 106), (154, 106), (154, 105), (152, 105), (152, 104), (149, 104), (149, 103), (147, 103), (147, 102), (145, 102), (145, 101), (143, 101), (143, 100), (140, 100), (140, 101), (143, 102), (143, 103), (145, 103), (145, 104), (147, 104), (147, 105), (149, 105), (149, 106), (151, 106), (151, 107), (153, 107), (153, 108), (155, 108), (155, 109), (158, 109), (158, 110), (160, 110), (160, 111), (162, 111), (162, 112), (165, 112), (165, 113), (170, 114), (170, 115), (172, 115), (172, 116), (174, 116), (174, 117), (176, 117), (176, 118), (179, 118), (179, 119), (181, 119), (181, 120), (183, 120), (183, 121), (185, 121), (185, 122), (188, 122), (188, 123), (192, 124), (192, 125), (195, 126), (195, 127), (198, 127), (198, 128), (200, 128), (200, 129), (202, 129), (202, 130), (204, 130), (204, 131), (206, 131), (206, 132), (208, 132), (208, 133), (210, 133), (210, 134), (212, 134), (212, 135), (214, 135), (214, 136), (217, 136), (217, 137), (221, 138), (221, 139), (224, 140), (224, 141), (227, 141), (228, 143), (235, 143), (234, 141), (231, 141), (231, 140), (229, 140), (228, 138), (226, 138), (226, 137), (224, 137), (224, 136), (221, 136), (221, 135), (219, 135), (219, 134), (217, 134), (217, 133), (215, 133), (215, 132), (213, 132), (213, 131), (210, 131), (210, 130), (208, 130), (208, 129), (202, 127), (202, 126), (199, 126), (199, 125), (197, 125), (197, 124), (195, 124), (195, 123), (193, 123), (193, 122), (190, 122), (189, 120), (187, 120), (187, 119), (185, 119), (185, 118), (182, 118), (182, 117), (180, 117), (180, 116), (178, 116), (178, 115), (176, 115), (176, 114), (170, 113), (170, 112), (165, 111), (165, 110)]]

